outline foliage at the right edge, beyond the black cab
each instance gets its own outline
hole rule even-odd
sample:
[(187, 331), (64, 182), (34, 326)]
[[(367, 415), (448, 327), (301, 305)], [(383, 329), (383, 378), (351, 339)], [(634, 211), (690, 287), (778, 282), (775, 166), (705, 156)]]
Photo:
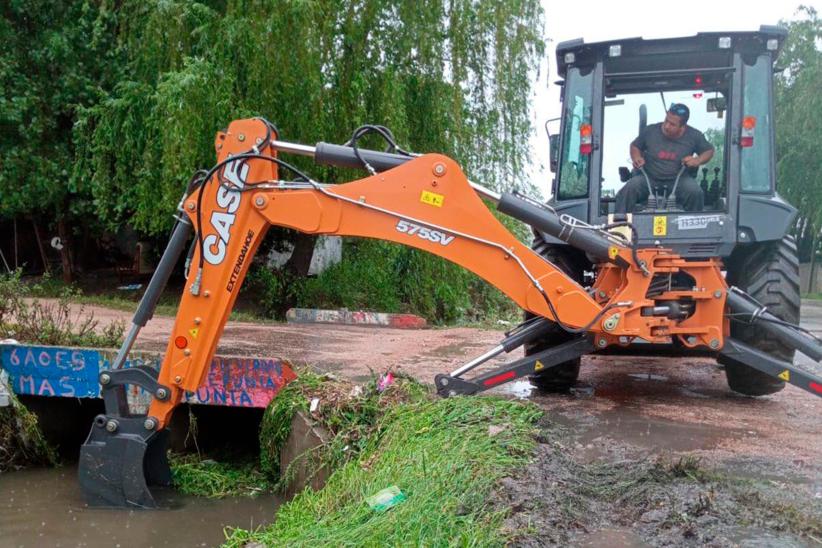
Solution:
[[(778, 190), (799, 209), (806, 236), (822, 228), (822, 21), (815, 9), (802, 7), (800, 17), (783, 22), (788, 39), (776, 75)], [(802, 236), (803, 234), (799, 234)]]

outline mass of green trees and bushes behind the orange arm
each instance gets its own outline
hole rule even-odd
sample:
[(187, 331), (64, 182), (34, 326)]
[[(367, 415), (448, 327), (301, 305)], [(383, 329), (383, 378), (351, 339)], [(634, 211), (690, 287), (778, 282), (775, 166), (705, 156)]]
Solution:
[[(305, 143), (382, 124), (473, 180), (533, 190), (524, 174), (542, 24), (538, 0), (13, 2), (0, 14), (0, 219), (57, 225), (64, 267), (81, 235), (128, 224), (162, 241), (189, 177), (214, 163), (215, 132), (250, 116)], [(362, 176), (295, 163), (330, 183)], [(315, 238), (276, 229), (263, 250), (286, 242), (305, 258)], [(346, 242), (344, 264), (317, 280), (307, 269), (292, 258), (258, 276), (271, 313), (319, 299), (451, 322), (503, 301), (440, 259), (375, 242)]]

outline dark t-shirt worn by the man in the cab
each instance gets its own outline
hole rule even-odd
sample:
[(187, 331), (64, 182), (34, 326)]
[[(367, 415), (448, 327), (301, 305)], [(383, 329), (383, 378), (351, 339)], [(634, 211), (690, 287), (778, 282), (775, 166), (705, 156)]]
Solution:
[(646, 126), (631, 144), (642, 151), (648, 176), (659, 181), (675, 179), (686, 156), (713, 148), (702, 132), (691, 126), (685, 126), (679, 139), (669, 139), (662, 133), (662, 123)]

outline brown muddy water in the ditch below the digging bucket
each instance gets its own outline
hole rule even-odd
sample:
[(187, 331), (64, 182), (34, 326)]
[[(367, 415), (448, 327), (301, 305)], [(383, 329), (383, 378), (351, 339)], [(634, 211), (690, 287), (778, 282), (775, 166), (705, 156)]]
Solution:
[(163, 510), (88, 508), (75, 467), (0, 475), (0, 546), (215, 546), (228, 526), (270, 523), (279, 500), (158, 494)]

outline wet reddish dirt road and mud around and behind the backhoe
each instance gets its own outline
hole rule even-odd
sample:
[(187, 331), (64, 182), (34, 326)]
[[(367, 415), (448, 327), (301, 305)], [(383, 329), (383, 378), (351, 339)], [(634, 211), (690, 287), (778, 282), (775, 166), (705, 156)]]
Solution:
[[(822, 334), (822, 303), (803, 303), (802, 312)], [(172, 324), (155, 318), (137, 346), (163, 350)], [(237, 322), (218, 352), (286, 358), (355, 382), (393, 368), (430, 383), (502, 336)], [(822, 374), (804, 356), (797, 361)], [(522, 545), (822, 545), (814, 540), (822, 539), (822, 398), (792, 386), (736, 395), (708, 358), (598, 355), (583, 360), (570, 394), (532, 393), (523, 381), (494, 392), (529, 398), (548, 419), (537, 460), (498, 495), (514, 508), (512, 531), (530, 535), (520, 535)], [(691, 464), (672, 472), (682, 459)]]

